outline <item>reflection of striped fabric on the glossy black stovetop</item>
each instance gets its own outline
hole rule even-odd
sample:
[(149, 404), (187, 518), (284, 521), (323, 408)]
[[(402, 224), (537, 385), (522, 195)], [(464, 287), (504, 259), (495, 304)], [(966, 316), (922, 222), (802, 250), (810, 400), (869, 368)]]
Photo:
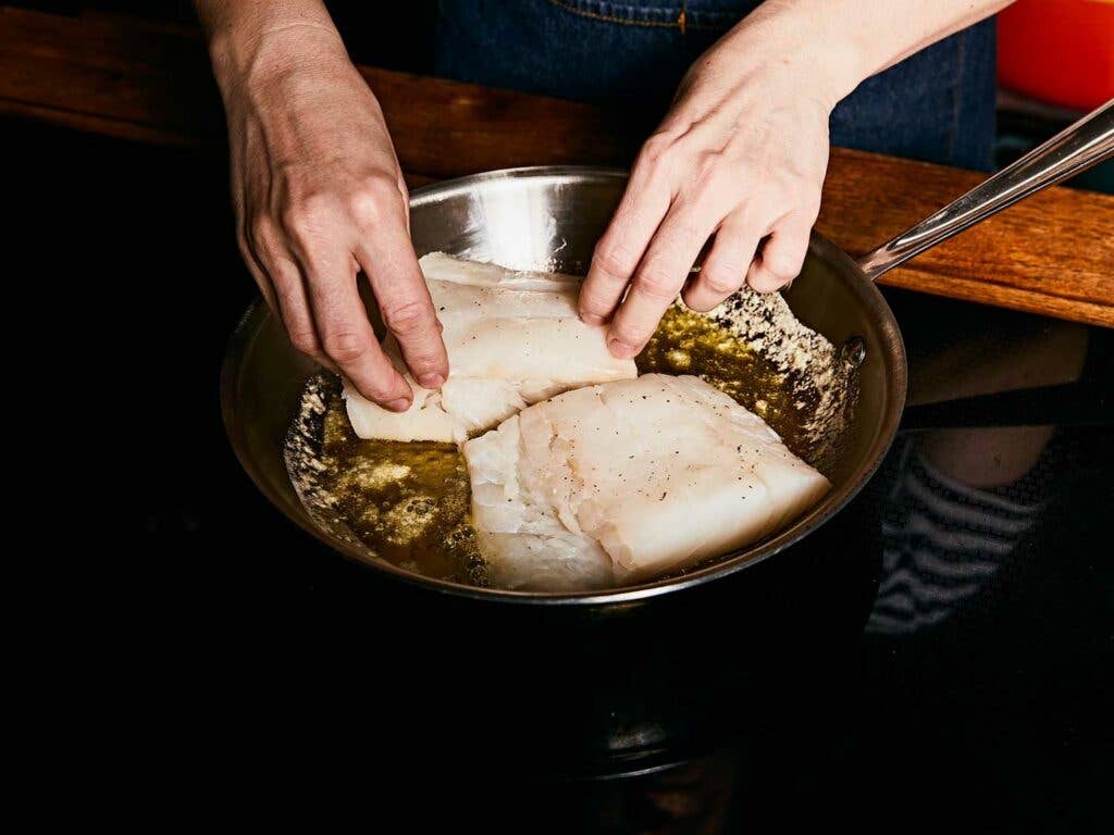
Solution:
[(916, 439), (897, 450), (882, 521), (882, 577), (867, 631), (909, 635), (947, 620), (983, 590), (1040, 512), (1032, 489), (1047, 455), (1017, 489), (980, 490), (928, 463)]

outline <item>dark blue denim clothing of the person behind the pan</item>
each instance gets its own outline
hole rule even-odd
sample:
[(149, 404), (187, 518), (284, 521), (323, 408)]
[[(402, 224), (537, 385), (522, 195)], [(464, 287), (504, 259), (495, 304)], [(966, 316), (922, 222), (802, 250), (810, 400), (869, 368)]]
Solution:
[[(690, 65), (756, 6), (441, 0), (437, 72), (656, 117)], [(860, 85), (832, 114), (832, 144), (988, 169), (994, 91), (994, 23), (984, 21)]]

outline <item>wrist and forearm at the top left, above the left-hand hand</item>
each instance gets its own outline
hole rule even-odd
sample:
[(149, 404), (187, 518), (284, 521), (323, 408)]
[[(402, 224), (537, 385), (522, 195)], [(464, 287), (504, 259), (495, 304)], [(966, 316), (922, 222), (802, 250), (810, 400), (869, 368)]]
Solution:
[(195, 6), (226, 97), (233, 86), (346, 55), (321, 0), (195, 0)]

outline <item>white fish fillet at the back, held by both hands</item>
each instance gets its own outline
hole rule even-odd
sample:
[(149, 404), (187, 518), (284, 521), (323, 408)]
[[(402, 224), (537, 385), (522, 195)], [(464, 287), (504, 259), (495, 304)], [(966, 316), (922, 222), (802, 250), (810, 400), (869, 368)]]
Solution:
[(440, 392), (422, 389), (389, 337), (383, 348), (413, 390), (413, 403), (401, 414), (388, 412), (345, 383), (349, 419), (360, 438), (461, 443), (530, 403), (637, 373), (633, 360), (612, 356), (603, 327), (580, 321), (579, 279), (444, 253), (430, 253), (419, 264), (444, 326), (449, 379)]

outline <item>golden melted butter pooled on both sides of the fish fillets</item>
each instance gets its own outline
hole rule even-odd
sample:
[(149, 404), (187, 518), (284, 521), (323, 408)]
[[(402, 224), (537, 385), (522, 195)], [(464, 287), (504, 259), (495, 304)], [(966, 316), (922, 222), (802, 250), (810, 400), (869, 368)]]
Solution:
[[(794, 402), (784, 374), (709, 320), (670, 308), (636, 364), (639, 373), (696, 374), (805, 456), (802, 428), (810, 404)], [(377, 554), (427, 577), (487, 584), (469, 520), (468, 469), (453, 444), (361, 440), (339, 391), (332, 391), (322, 463), (322, 485), (336, 510)]]

